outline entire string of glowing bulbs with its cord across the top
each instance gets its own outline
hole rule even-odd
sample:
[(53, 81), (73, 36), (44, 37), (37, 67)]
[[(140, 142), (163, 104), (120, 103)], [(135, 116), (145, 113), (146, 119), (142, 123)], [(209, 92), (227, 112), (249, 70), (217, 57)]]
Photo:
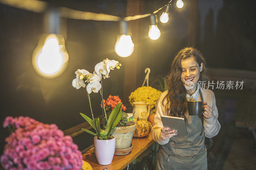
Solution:
[[(66, 7), (59, 7), (58, 14), (59, 17), (72, 18), (72, 19), (83, 19), (83, 20), (99, 20), (99, 21), (120, 21), (121, 23), (121, 34), (117, 36), (115, 44), (115, 52), (121, 57), (128, 57), (134, 51), (134, 44), (130, 35), (127, 35), (127, 23), (126, 21), (131, 21), (135, 19), (149, 17), (151, 18), (151, 24), (148, 30), (148, 36), (152, 40), (157, 40), (161, 32), (157, 27), (156, 14), (164, 7), (165, 11), (160, 17), (162, 23), (166, 23), (169, 20), (169, 11), (171, 8), (171, 1), (163, 7), (157, 9), (156, 11), (148, 14), (128, 16), (122, 19), (118, 16), (108, 15), (108, 14), (97, 14), (88, 11), (77, 11), (69, 9)], [(12, 7), (25, 9), (28, 11), (33, 11), (37, 13), (44, 13), (49, 6), (48, 3), (41, 0), (1, 0), (0, 3), (7, 4)], [(176, 3), (178, 8), (183, 7), (182, 0), (177, 0)], [(54, 19), (53, 19), (54, 20)], [(52, 21), (53, 21), (52, 20)], [(52, 24), (49, 24), (50, 26)], [(50, 32), (52, 33), (52, 32)], [(36, 72), (45, 77), (56, 77), (60, 75), (66, 68), (68, 63), (68, 53), (65, 48), (65, 42), (63, 36), (55, 34), (44, 35), (38, 42), (36, 49), (33, 52), (33, 66)]]

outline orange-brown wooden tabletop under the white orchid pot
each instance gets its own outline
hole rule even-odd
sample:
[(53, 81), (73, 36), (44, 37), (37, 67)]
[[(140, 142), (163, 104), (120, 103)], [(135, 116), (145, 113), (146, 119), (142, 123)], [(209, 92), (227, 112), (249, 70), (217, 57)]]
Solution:
[(151, 133), (146, 137), (132, 138), (132, 151), (126, 155), (115, 155), (112, 163), (109, 165), (100, 165), (97, 162), (94, 147), (89, 151), (85, 152), (83, 156), (84, 160), (89, 162), (93, 170), (102, 170), (108, 168), (108, 170), (122, 170), (128, 166), (135, 158), (137, 158), (142, 152), (144, 152), (151, 144), (155, 141), (152, 138)]

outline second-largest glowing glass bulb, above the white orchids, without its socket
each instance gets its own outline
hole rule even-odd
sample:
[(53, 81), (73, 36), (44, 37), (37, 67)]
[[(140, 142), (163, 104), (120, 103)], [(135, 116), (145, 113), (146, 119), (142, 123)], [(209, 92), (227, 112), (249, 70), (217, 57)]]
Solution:
[(115, 44), (115, 52), (120, 57), (128, 57), (133, 53), (134, 44), (130, 35), (119, 35)]

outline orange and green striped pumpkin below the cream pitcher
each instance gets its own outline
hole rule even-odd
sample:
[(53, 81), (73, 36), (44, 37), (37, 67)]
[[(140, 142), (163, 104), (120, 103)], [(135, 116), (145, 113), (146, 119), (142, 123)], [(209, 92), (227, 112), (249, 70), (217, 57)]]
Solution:
[(136, 129), (133, 133), (133, 137), (145, 137), (151, 132), (152, 125), (145, 119), (134, 120), (136, 122)]

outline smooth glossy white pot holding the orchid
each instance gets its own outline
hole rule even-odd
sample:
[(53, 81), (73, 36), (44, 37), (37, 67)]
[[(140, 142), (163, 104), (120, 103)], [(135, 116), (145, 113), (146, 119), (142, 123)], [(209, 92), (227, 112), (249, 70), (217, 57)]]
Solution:
[(94, 137), (94, 150), (97, 161), (100, 165), (111, 164), (115, 153), (116, 138), (112, 137), (109, 140), (99, 140)]

